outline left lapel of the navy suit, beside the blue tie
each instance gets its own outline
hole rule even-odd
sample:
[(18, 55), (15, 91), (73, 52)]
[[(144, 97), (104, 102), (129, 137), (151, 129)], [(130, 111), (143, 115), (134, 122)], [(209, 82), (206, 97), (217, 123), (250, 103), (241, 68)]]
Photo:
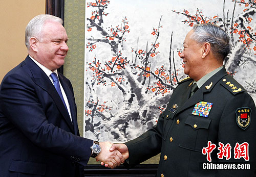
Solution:
[(67, 124), (69, 125), (71, 131), (74, 133), (74, 128), (72, 125), (72, 122), (70, 120), (70, 116), (68, 111), (66, 110), (65, 106), (62, 103), (62, 100), (60, 99), (58, 92), (56, 91), (55, 87), (53, 86), (52, 82), (48, 78), (48, 76), (45, 74), (43, 70), (37, 64), (35, 64), (29, 56), (25, 59), (25, 63), (28, 65), (32, 77), (31, 79), (35, 82), (36, 85), (44, 89), (49, 93), (49, 95), (52, 97), (54, 103), (56, 104), (59, 112), (62, 114), (62, 117), (65, 119)]

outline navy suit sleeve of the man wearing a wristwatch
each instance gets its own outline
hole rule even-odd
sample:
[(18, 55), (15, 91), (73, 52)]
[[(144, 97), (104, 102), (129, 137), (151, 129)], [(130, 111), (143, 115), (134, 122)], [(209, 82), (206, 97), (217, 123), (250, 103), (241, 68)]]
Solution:
[[(86, 166), (93, 141), (64, 131), (49, 123), (31, 78), (26, 74), (10, 74), (2, 82), (2, 113), (32, 143)], [(56, 110), (57, 111), (57, 110)]]

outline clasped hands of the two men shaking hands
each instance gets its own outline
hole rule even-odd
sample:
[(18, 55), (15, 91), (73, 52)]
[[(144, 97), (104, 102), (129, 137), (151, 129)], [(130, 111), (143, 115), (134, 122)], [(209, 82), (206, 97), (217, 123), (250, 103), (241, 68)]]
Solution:
[(101, 161), (101, 165), (108, 168), (116, 168), (124, 160), (129, 158), (129, 151), (125, 144), (113, 144), (111, 142), (99, 142), (100, 153), (95, 157), (96, 161)]

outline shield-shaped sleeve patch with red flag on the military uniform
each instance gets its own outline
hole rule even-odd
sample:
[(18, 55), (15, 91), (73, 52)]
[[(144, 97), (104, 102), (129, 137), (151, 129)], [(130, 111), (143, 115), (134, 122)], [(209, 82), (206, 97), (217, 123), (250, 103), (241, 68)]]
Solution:
[(238, 108), (236, 111), (238, 127), (245, 130), (251, 123), (251, 108)]

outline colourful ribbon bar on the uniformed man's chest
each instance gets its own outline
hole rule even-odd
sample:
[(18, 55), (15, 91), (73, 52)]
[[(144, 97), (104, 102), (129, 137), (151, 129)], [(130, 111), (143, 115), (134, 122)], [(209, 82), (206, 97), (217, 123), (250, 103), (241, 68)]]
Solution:
[(212, 103), (199, 102), (195, 105), (192, 114), (198, 115), (198, 116), (203, 116), (203, 117), (208, 117), (211, 108), (212, 108)]

